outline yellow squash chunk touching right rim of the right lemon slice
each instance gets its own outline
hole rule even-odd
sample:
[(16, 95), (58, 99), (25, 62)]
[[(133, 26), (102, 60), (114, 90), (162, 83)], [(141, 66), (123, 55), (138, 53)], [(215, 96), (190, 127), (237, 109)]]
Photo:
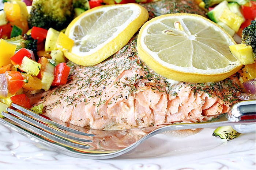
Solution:
[(252, 46), (247, 44), (236, 44), (229, 46), (230, 52), (244, 65), (254, 63)]

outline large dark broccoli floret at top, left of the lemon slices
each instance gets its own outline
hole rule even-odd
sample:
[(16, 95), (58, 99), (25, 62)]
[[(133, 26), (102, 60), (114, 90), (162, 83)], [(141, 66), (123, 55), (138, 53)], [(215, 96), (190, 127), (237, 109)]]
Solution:
[(37, 26), (60, 31), (73, 19), (72, 8), (72, 0), (33, 0), (27, 20), (29, 28)]

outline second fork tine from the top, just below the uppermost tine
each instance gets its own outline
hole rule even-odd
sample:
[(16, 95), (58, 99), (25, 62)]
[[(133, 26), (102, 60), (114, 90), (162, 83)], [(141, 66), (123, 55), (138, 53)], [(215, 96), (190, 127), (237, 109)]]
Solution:
[[(26, 120), (26, 122), (30, 123), (30, 124), (33, 124), (41, 129), (44, 129), (46, 131), (49, 131), (50, 133), (52, 134), (55, 134), (57, 136), (60, 136), (62, 138), (68, 138), (68, 139), (71, 139), (71, 140), (76, 140), (76, 141), (80, 141), (80, 142), (92, 142), (91, 140), (87, 140), (87, 139), (83, 139), (83, 138), (77, 138), (77, 137), (74, 137), (74, 136), (71, 136), (71, 135), (68, 135), (68, 134), (65, 134), (61, 131), (58, 131), (56, 129), (53, 129), (49, 126), (46, 126), (44, 124), (42, 124), (41, 122), (37, 122), (36, 120), (26, 116), (26, 115), (23, 115), (21, 114), (20, 112), (16, 111), (16, 110), (12, 110), (11, 108), (7, 108), (6, 109), (8, 112), (14, 114), (15, 116), (18, 116), (19, 118), (22, 118), (24, 120)], [(6, 114), (4, 114), (6, 115)], [(10, 118), (9, 115), (7, 118)]]

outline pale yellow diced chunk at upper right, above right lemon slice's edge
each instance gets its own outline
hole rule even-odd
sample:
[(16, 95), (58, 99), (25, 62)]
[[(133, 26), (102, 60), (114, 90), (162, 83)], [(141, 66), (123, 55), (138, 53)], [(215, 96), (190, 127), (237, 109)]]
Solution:
[(241, 16), (236, 15), (226, 8), (223, 10), (219, 20), (234, 29), (235, 32), (239, 30), (241, 24), (244, 22), (244, 19)]

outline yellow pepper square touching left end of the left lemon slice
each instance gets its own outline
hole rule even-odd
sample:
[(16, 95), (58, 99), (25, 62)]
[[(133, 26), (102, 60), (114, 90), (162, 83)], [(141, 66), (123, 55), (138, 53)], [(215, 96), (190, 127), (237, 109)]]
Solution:
[(59, 37), (56, 42), (56, 48), (60, 51), (71, 51), (74, 45), (74, 40), (70, 39), (67, 35), (63, 32), (60, 32)]

